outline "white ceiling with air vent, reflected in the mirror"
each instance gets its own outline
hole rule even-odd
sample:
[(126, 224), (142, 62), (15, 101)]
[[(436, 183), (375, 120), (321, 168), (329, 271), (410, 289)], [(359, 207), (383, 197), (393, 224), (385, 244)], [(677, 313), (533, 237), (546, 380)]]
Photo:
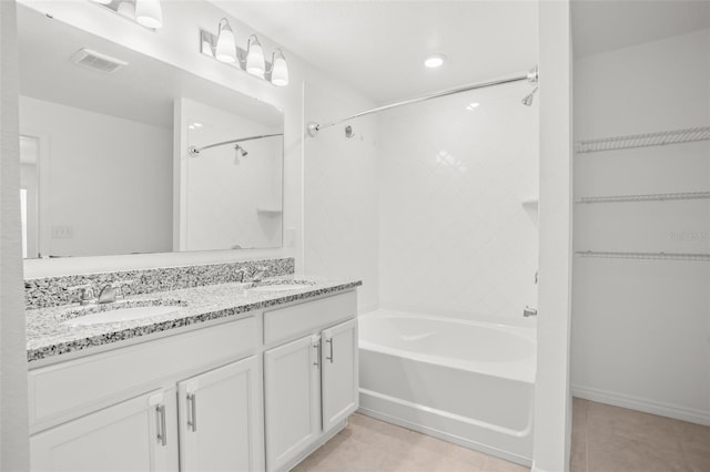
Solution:
[[(22, 95), (163, 127), (173, 127), (173, 102), (179, 98), (250, 116), (267, 126), (283, 123), (282, 111), (272, 105), (22, 4), (18, 4), (18, 45)], [(70, 59), (83, 48), (128, 65), (111, 74), (78, 66)]]

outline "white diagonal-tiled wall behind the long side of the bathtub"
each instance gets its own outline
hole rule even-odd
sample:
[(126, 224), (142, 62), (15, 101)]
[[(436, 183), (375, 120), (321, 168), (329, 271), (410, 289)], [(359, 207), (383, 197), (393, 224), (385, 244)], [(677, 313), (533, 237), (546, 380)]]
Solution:
[(381, 115), (382, 308), (509, 320), (536, 306), (538, 110), (520, 103), (530, 90)]

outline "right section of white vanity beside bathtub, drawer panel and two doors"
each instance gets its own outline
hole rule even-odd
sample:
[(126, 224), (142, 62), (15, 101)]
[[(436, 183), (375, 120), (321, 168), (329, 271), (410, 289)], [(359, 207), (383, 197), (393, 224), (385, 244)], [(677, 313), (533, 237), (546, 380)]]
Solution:
[(264, 352), (268, 471), (295, 465), (357, 409), (355, 316), (354, 291), (264, 314), (277, 345)]

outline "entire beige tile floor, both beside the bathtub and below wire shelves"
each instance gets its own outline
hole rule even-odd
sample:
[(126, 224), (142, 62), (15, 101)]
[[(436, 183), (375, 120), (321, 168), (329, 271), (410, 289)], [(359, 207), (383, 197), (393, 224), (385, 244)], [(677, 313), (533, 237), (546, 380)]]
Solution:
[[(574, 399), (571, 472), (710, 472), (710, 427)], [(294, 472), (525, 472), (527, 468), (354, 414)]]

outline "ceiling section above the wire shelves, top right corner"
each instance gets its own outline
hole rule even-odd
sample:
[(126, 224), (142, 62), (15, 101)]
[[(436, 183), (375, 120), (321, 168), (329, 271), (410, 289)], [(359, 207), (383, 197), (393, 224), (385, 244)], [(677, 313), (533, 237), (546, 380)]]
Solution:
[(580, 57), (710, 28), (710, 1), (574, 0), (571, 16)]

